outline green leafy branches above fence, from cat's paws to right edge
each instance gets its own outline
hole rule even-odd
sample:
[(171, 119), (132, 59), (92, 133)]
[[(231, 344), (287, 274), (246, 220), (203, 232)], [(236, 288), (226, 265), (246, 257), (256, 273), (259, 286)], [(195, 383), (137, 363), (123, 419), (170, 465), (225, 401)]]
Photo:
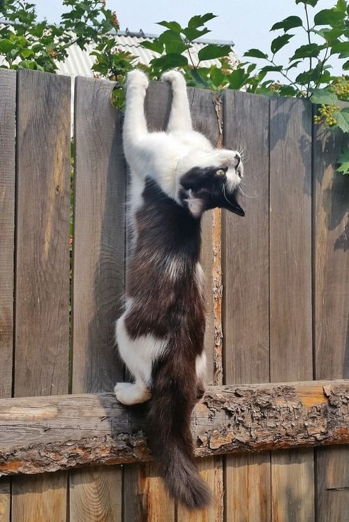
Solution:
[[(219, 91), (221, 89), (245, 89), (248, 92), (309, 98), (312, 103), (320, 103), (316, 124), (329, 130), (340, 128), (349, 133), (349, 109), (340, 101), (349, 100), (349, 77), (331, 74), (331, 57), (341, 63), (343, 71), (349, 70), (349, 7), (346, 0), (338, 0), (333, 8), (315, 8), (319, 0), (295, 0), (304, 8), (303, 19), (290, 15), (272, 26), (271, 31), (279, 31), (270, 44), (270, 52), (250, 49), (244, 54), (244, 61), (233, 64), (228, 53), (229, 47), (207, 45), (198, 55), (198, 63), (192, 57), (193, 41), (209, 31), (205, 23), (214, 15), (207, 13), (195, 16), (182, 28), (178, 22), (160, 22), (166, 27), (158, 38), (144, 47), (160, 54), (150, 64), (151, 77), (158, 78), (164, 70), (180, 67), (189, 85)], [(292, 53), (288, 64), (278, 61), (278, 52), (292, 43), (296, 31), (304, 34), (304, 43)], [(189, 60), (187, 59), (189, 57)], [(202, 61), (218, 58), (220, 64), (205, 67)], [(253, 61), (251, 61), (253, 59)], [(260, 61), (265, 64), (258, 66)], [(279, 77), (270, 79), (270, 75)], [(349, 173), (348, 151), (343, 151), (338, 159), (338, 171)]]

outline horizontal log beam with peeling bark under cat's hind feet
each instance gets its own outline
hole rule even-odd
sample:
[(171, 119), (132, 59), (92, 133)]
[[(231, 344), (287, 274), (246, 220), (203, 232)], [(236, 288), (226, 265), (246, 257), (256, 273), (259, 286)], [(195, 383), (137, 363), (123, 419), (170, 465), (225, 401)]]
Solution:
[[(112, 394), (0, 400), (0, 475), (149, 461), (144, 409)], [(211, 387), (195, 455), (349, 443), (349, 380)]]

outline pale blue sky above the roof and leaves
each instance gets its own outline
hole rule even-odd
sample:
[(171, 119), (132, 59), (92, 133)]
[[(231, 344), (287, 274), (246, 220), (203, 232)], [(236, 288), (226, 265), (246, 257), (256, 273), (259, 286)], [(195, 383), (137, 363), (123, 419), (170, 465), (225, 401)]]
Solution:
[[(61, 0), (33, 0), (39, 17), (46, 17), (49, 22), (58, 22), (63, 11)], [(331, 8), (336, 0), (319, 0), (316, 10), (309, 7), (309, 13)], [(304, 18), (304, 6), (296, 5), (295, 0), (107, 0), (107, 7), (115, 10), (120, 29), (158, 34), (163, 29), (155, 22), (176, 20), (182, 25), (193, 15), (214, 13), (217, 17), (208, 22), (211, 33), (207, 38), (212, 40), (229, 40), (235, 43), (235, 52), (242, 57), (246, 50), (256, 47), (268, 52), (273, 38), (282, 31), (269, 32), (275, 22), (290, 15)], [(312, 16), (311, 16), (312, 20)], [(292, 45), (276, 54), (278, 64), (287, 64), (294, 50), (308, 43), (303, 29), (293, 31)], [(314, 40), (315, 41), (315, 40)], [(341, 68), (332, 61), (334, 73), (341, 74)]]

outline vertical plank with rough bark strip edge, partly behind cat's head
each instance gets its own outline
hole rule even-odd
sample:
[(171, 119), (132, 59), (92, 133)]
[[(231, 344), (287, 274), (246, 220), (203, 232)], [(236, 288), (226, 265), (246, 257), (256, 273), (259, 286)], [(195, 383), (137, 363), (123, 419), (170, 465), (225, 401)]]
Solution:
[[(210, 91), (203, 91), (199, 89), (188, 89), (189, 103), (191, 106), (191, 114), (193, 126), (195, 130), (204, 134), (209, 138), (212, 144), (221, 147), (221, 98)], [(214, 292), (214, 283), (216, 274), (214, 271), (221, 270), (221, 259), (214, 259), (221, 248), (221, 222), (220, 213), (216, 211), (209, 211), (204, 214), (202, 218), (202, 251), (201, 264), (205, 271), (205, 304), (207, 323), (205, 331), (205, 351), (207, 355), (207, 382), (217, 384), (216, 379), (221, 368), (221, 350), (220, 350), (220, 329), (221, 316), (217, 313), (217, 307), (214, 307), (214, 299), (221, 301), (221, 291), (217, 288)], [(219, 266), (216, 266), (215, 261)], [(214, 266), (215, 263), (215, 266)], [(221, 274), (219, 274), (221, 276)], [(218, 308), (221, 308), (221, 302)], [(216, 308), (216, 317), (215, 309)], [(215, 331), (215, 325), (218, 330)], [(216, 338), (216, 337), (219, 338)], [(218, 351), (217, 351), (218, 350)], [(216, 368), (216, 366), (219, 366)], [(218, 370), (218, 371), (217, 371)], [(197, 512), (189, 512), (183, 506), (179, 505), (177, 508), (177, 521), (186, 522), (221, 522), (223, 521), (223, 463), (221, 457), (216, 458), (200, 458), (196, 461), (198, 470), (202, 478), (207, 482), (209, 488), (213, 493), (213, 501), (205, 509), (200, 509)]]

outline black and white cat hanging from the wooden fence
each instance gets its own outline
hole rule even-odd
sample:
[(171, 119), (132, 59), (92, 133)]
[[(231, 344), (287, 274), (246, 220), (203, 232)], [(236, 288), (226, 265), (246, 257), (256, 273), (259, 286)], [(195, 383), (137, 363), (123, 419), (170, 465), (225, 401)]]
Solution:
[(144, 115), (147, 76), (133, 70), (126, 80), (133, 254), (116, 336), (135, 382), (119, 382), (114, 392), (125, 405), (151, 398), (147, 436), (165, 486), (198, 509), (211, 498), (191, 436), (191, 412), (205, 392), (200, 218), (214, 207), (244, 215), (236, 197), (243, 166), (237, 151), (214, 149), (193, 130), (183, 75), (170, 70), (162, 80), (172, 84), (172, 105), (167, 131), (154, 133)]

